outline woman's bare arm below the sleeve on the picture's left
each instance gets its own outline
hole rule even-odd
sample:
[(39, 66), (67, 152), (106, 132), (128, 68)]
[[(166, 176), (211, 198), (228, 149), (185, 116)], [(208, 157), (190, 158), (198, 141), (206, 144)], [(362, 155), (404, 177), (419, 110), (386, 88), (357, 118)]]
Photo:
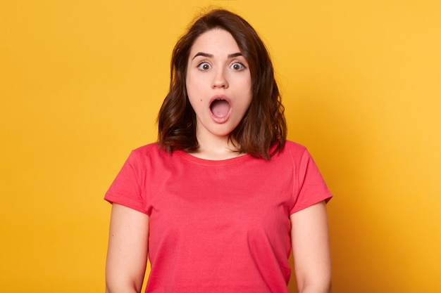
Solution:
[(147, 265), (149, 216), (112, 205), (106, 261), (106, 293), (139, 293)]

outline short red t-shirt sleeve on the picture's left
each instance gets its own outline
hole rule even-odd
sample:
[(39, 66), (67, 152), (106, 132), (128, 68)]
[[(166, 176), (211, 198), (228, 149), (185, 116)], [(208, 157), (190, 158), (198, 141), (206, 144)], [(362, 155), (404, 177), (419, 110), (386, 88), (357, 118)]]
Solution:
[(132, 151), (108, 188), (104, 199), (147, 214), (141, 188), (143, 173), (139, 154)]

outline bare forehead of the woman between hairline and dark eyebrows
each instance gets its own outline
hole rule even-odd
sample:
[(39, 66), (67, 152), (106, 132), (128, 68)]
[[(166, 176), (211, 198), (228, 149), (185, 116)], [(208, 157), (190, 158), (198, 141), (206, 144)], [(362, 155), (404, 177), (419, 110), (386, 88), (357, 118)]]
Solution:
[(197, 52), (222, 53), (223, 51), (230, 54), (240, 52), (240, 49), (230, 32), (215, 28), (204, 32), (194, 40), (190, 55)]

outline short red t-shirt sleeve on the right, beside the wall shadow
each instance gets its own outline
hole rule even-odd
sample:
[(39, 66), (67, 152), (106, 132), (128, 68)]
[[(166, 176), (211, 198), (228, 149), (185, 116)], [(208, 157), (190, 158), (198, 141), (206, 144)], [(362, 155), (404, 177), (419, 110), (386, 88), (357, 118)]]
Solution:
[(308, 150), (304, 150), (297, 166), (297, 188), (294, 189), (294, 206), (290, 214), (323, 200), (328, 202), (333, 196)]

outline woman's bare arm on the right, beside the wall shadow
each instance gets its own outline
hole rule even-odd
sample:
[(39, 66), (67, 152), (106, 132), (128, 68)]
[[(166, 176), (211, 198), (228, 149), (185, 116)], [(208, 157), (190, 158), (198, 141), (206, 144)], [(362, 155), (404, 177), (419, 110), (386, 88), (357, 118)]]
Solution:
[(299, 293), (331, 292), (328, 215), (319, 202), (290, 216), (292, 255)]

